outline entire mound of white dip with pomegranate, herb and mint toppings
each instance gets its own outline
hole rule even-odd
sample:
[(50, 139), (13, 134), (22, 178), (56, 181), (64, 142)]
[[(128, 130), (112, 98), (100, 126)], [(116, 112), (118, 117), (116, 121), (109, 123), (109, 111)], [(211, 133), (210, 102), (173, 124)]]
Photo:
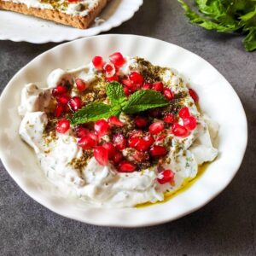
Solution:
[[(107, 88), (121, 88), (121, 100), (114, 102)], [(139, 95), (147, 104), (141, 97), (127, 111)], [(154, 108), (153, 96), (165, 106)], [(20, 137), (62, 193), (99, 207), (135, 207), (163, 201), (216, 158), (218, 124), (200, 113), (198, 100), (171, 68), (120, 53), (108, 62), (96, 56), (87, 66), (54, 70), (46, 88), (26, 84)]]

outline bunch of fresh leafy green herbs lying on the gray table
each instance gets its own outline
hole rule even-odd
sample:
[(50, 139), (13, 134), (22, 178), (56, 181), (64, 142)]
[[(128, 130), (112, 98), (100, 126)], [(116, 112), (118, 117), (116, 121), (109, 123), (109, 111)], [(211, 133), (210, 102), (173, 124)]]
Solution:
[(256, 0), (195, 0), (202, 15), (183, 0), (177, 1), (192, 24), (218, 32), (239, 32), (246, 36), (245, 49), (256, 49)]

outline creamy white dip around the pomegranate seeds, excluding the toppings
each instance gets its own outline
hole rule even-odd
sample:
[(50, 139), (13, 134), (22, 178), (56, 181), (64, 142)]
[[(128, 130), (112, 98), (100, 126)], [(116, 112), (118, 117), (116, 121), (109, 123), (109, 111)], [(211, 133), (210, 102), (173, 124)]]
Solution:
[[(119, 69), (119, 75), (127, 75), (131, 70), (140, 72), (142, 68), (136, 58), (126, 57), (126, 64)], [(75, 169), (70, 163), (81, 157), (83, 150), (72, 131), (57, 133), (56, 139), (50, 143), (45, 143), (43, 137), (48, 123), (46, 113), (49, 111), (51, 90), (64, 80), (73, 83), (79, 78), (90, 84), (96, 77), (96, 69), (91, 63), (68, 71), (56, 69), (49, 74), (46, 88), (26, 84), (21, 93), (20, 137), (34, 149), (46, 176), (62, 193), (78, 196), (101, 207), (134, 207), (145, 202), (163, 201), (166, 191), (179, 189), (185, 180), (196, 176), (199, 165), (216, 158), (218, 150), (213, 148), (212, 140), (217, 137), (218, 124), (202, 115), (187, 93), (183, 105), (196, 117), (198, 125), (188, 137), (175, 137), (172, 133), (166, 137), (166, 140), (172, 137), (172, 145), (168, 154), (170, 161), (163, 166), (175, 173), (174, 183), (158, 183), (160, 174), (154, 166), (142, 172), (122, 173), (111, 164), (99, 165), (94, 157), (82, 172)], [(166, 69), (161, 79), (175, 93), (188, 92), (189, 84), (172, 69)]]

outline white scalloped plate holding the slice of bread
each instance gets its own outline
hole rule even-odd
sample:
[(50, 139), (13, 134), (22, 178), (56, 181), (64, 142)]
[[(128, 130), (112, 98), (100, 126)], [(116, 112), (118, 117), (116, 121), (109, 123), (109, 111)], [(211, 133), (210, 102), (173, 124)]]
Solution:
[(106, 20), (102, 24), (81, 30), (55, 22), (0, 10), (0, 39), (15, 42), (26, 41), (33, 44), (71, 41), (90, 37), (120, 26), (137, 12), (143, 0), (111, 0), (99, 15)]

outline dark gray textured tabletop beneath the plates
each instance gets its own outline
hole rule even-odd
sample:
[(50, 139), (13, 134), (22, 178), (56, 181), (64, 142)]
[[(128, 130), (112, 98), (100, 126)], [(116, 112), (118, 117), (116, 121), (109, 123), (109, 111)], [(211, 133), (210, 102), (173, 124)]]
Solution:
[[(1, 164), (0, 254), (255, 255), (256, 52), (245, 52), (240, 37), (189, 25), (175, 0), (145, 0), (132, 20), (110, 32), (178, 44), (224, 74), (247, 113), (249, 139), (241, 168), (229, 187), (201, 210), (172, 223), (125, 230), (81, 224), (49, 212), (21, 191)], [(20, 67), (53, 46), (0, 42), (1, 90)]]

